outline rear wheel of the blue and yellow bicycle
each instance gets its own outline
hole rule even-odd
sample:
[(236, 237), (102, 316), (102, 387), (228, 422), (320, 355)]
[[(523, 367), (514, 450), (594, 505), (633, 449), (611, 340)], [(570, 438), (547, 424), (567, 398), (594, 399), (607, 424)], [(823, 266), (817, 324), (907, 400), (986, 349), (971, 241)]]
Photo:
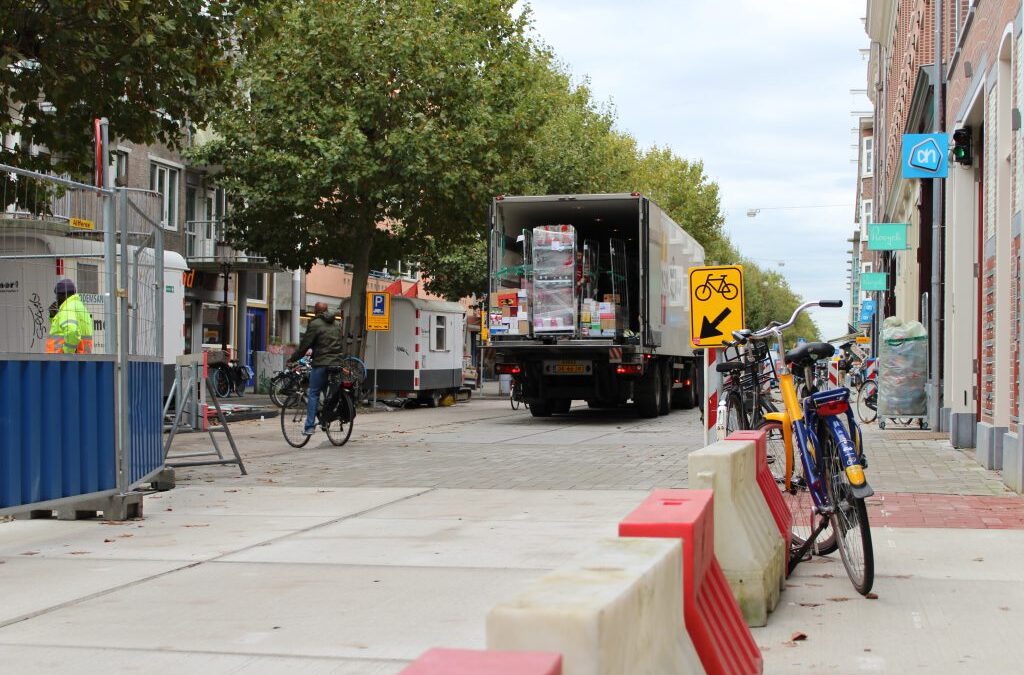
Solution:
[(853, 587), (861, 595), (866, 595), (874, 583), (874, 549), (867, 522), (867, 507), (864, 500), (853, 496), (839, 449), (830, 435), (822, 442), (821, 455), (824, 460), (821, 462), (821, 478), (834, 507), (830, 520), (833, 530), (839, 535), (836, 537), (839, 555)]

